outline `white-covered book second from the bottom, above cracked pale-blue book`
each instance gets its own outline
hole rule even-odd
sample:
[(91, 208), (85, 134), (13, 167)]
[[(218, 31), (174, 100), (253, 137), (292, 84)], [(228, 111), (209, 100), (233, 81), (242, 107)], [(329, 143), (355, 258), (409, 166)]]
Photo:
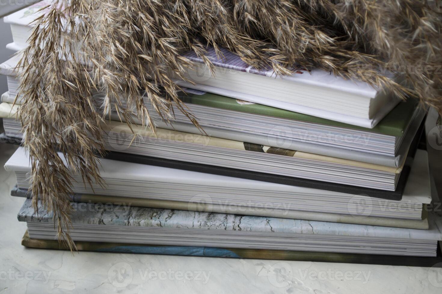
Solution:
[[(22, 147), (15, 151), (4, 167), (15, 173), (19, 189), (30, 187), (30, 162)], [(310, 213), (333, 213), (349, 216), (350, 220), (353, 217), (355, 220), (352, 222), (370, 216), (422, 220), (422, 205), (431, 202), (428, 159), (424, 150), (416, 152), (416, 160), (400, 201), (109, 159), (100, 160), (99, 172), (105, 187), (94, 182), (89, 186), (72, 171), (72, 192), (179, 201), (187, 203), (191, 210), (201, 208), (207, 212), (224, 208), (244, 212), (260, 210), (267, 213), (263, 216), (278, 216), (275, 213), (286, 216), (301, 212), (306, 216)], [(319, 215), (314, 217), (324, 220)]]

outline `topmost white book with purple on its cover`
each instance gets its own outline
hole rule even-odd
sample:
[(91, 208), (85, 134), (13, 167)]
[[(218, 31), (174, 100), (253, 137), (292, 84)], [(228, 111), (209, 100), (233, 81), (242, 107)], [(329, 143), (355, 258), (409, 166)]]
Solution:
[(213, 47), (206, 51), (215, 66), (213, 74), (201, 57), (187, 52), (183, 56), (196, 66), (184, 74), (188, 81), (175, 79), (178, 85), (368, 128), (376, 126), (399, 103), (384, 89), (320, 69), (299, 68), (292, 75), (281, 76), (270, 69), (252, 68), (225, 48), (220, 49), (221, 56)]

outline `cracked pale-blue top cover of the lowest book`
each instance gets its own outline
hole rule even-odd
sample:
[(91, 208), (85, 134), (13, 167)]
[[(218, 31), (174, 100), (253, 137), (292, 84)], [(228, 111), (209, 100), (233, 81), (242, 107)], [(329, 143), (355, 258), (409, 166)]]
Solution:
[[(312, 220), (293, 220), (276, 217), (244, 216), (238, 214), (192, 212), (187, 210), (147, 208), (136, 206), (107, 205), (106, 209), (94, 203), (72, 202), (73, 225), (100, 225), (103, 227), (143, 227), (184, 230), (241, 231), (244, 235), (266, 233), (267, 235), (289, 236), (336, 236), (340, 238), (383, 238), (385, 240), (442, 240), (442, 212), (428, 213), (428, 230), (380, 227), (350, 223), (332, 223)], [(18, 220), (30, 223), (53, 223), (53, 213), (47, 212), (38, 202), (38, 215), (32, 200), (26, 199), (18, 213)], [(206, 234), (206, 233), (205, 233)]]

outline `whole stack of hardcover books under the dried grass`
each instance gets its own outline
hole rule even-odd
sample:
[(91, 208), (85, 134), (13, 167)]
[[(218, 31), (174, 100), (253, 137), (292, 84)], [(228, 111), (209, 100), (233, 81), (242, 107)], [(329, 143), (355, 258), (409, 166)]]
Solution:
[[(38, 5), (5, 19), (14, 37), (8, 48), (26, 46)], [(408, 265), (440, 258), (441, 215), (424, 209), (426, 109), (325, 71), (275, 76), (207, 50), (214, 74), (188, 52), (200, 64), (187, 73), (194, 83), (176, 79), (203, 130), (178, 109), (164, 122), (146, 98), (155, 134), (116, 114), (103, 126), (105, 187), (72, 171), (78, 249)], [(8, 76), (3, 136), (17, 143), (18, 58), (0, 65)], [(60, 248), (52, 214), (31, 205), (22, 147), (5, 168), (17, 178), (11, 194), (27, 198), (18, 215), (28, 228), (22, 244)]]

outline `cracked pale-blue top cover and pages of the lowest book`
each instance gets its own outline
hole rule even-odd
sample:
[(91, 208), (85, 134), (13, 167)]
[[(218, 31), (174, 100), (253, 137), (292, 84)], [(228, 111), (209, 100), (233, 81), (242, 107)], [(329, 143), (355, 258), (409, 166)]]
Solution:
[[(319, 251), (436, 257), (442, 238), (440, 212), (428, 215), (429, 230), (328, 223), (307, 220), (189, 212), (158, 208), (97, 208), (72, 202), (74, 241), (166, 246)], [(26, 199), (18, 220), (29, 237), (57, 239), (52, 213)], [(439, 213), (439, 214), (438, 214)]]

